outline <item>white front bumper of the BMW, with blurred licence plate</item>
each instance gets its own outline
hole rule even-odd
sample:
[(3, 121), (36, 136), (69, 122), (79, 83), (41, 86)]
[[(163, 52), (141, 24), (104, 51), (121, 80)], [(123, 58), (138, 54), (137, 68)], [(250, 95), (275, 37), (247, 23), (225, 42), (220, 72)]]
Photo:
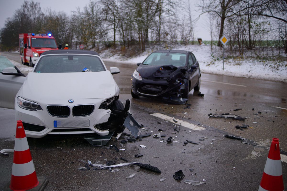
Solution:
[[(91, 100), (94, 103), (91, 103)], [(98, 135), (108, 135), (109, 131), (101, 131), (95, 126), (106, 123), (110, 117), (109, 109), (98, 109), (104, 99), (82, 99), (81, 105), (94, 105), (92, 114), (84, 117), (73, 116), (73, 106), (79, 104), (65, 104), (70, 108), (69, 117), (54, 117), (48, 109), (47, 104), (40, 104), (43, 110), (30, 111), (23, 109), (15, 103), (16, 120), (22, 120), (27, 137), (41, 138), (46, 135), (71, 135), (84, 133), (97, 133)], [(63, 102), (62, 102), (63, 103)], [(60, 105), (50, 104), (50, 105)]]

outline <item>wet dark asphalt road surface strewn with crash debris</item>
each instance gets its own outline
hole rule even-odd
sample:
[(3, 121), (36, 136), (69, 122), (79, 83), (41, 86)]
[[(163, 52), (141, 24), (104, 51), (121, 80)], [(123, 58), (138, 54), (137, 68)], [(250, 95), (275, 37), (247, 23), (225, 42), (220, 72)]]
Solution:
[[(130, 77), (136, 65), (112, 62), (105, 62), (105, 64), (108, 68), (110, 66), (120, 68), (121, 73), (114, 75), (121, 88), (120, 99), (123, 102), (131, 99)], [(287, 108), (287, 84), (211, 74), (202, 74), (201, 80), (200, 91), (205, 95), (203, 98), (198, 97), (197, 92), (191, 91), (188, 101), (191, 104), (190, 109), (183, 109), (185, 105), (167, 105), (160, 100), (143, 97), (131, 99), (131, 113), (140, 124), (144, 124), (146, 129), (154, 133), (158, 133), (158, 129), (166, 130), (160, 133), (167, 137), (177, 136), (174, 140), (180, 143), (167, 145), (152, 136), (123, 145), (119, 141), (110, 141), (108, 144), (126, 148), (125, 151), (117, 153), (114, 149), (93, 147), (82, 137), (28, 139), (37, 175), (45, 176), (50, 180), (45, 190), (258, 190), (268, 154), (267, 147), (272, 137), (278, 137), (280, 148), (287, 151), (287, 110), (273, 107)], [(242, 110), (233, 111), (236, 108)], [(184, 114), (185, 112), (187, 114)], [(203, 126), (206, 130), (189, 132), (189, 129), (181, 127), (180, 132), (174, 134), (173, 123), (150, 115), (152, 113), (163, 113)], [(233, 113), (249, 118), (241, 122), (209, 118), (208, 113)], [(13, 148), (15, 137), (13, 115), (13, 110), (0, 109), (1, 149)], [(244, 131), (235, 129), (235, 125), (242, 123), (252, 128)], [(145, 133), (145, 130), (142, 131), (141, 133)], [(223, 136), (228, 133), (252, 140), (251, 145), (224, 138)], [(167, 137), (164, 139), (166, 140)], [(125, 137), (122, 136), (121, 139)], [(183, 146), (183, 141), (187, 139), (196, 141), (199, 145), (188, 143)], [(205, 140), (199, 141), (199, 139)], [(147, 148), (141, 148), (138, 145), (145, 145)], [(135, 158), (134, 155), (139, 153), (144, 156)], [(102, 164), (105, 164), (104, 159), (107, 159), (115, 160), (118, 164), (124, 162), (119, 159), (120, 157), (126, 158), (129, 162), (151, 164), (158, 167), (162, 173), (151, 173), (133, 166), (121, 167), (121, 171), (118, 172), (77, 170), (84, 166), (84, 163), (78, 159), (91, 160), (93, 163), (100, 161)], [(10, 180), (12, 160), (13, 154), (0, 156), (0, 188)], [(190, 172), (190, 168), (194, 168), (194, 171)], [(282, 169), (284, 184), (287, 185), (287, 163), (282, 162)], [(178, 170), (183, 170), (184, 179), (197, 181), (205, 179), (206, 184), (192, 186), (183, 181), (177, 182), (172, 178), (172, 174)], [(136, 175), (132, 179), (125, 178), (133, 173)], [(166, 180), (160, 182), (159, 179), (164, 177)]]

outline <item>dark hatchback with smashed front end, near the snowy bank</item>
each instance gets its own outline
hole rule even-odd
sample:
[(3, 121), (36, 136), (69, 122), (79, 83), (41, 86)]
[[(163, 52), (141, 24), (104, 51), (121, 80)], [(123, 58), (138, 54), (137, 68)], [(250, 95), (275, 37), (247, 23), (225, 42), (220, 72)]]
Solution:
[(200, 68), (195, 56), (185, 50), (158, 50), (133, 72), (131, 95), (158, 97), (184, 104), (188, 93), (200, 88)]

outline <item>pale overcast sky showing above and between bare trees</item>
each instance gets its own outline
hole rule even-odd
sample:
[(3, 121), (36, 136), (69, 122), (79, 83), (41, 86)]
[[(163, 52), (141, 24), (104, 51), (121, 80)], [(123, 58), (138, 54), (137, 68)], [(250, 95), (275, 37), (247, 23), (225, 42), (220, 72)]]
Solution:
[[(90, 0), (34, 0), (34, 2), (39, 2), (41, 9), (51, 8), (55, 11), (63, 11), (68, 15), (71, 11), (75, 11), (76, 7), (81, 7), (81, 9), (89, 3)], [(190, 0), (191, 7), (195, 7), (197, 0)], [(0, 0), (0, 28), (4, 27), (5, 20), (8, 17), (12, 17), (15, 10), (20, 8), (24, 0)], [(200, 13), (195, 10), (192, 11), (193, 19), (195, 19)], [(211, 40), (210, 33), (207, 27), (207, 16), (202, 15), (200, 19), (195, 23), (194, 37), (202, 38), (202, 40)]]

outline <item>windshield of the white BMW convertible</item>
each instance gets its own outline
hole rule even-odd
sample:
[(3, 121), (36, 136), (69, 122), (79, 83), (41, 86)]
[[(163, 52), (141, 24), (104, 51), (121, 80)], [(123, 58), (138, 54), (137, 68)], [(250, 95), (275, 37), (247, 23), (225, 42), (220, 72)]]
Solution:
[(34, 72), (100, 72), (105, 71), (101, 60), (89, 55), (48, 55), (40, 58)]

